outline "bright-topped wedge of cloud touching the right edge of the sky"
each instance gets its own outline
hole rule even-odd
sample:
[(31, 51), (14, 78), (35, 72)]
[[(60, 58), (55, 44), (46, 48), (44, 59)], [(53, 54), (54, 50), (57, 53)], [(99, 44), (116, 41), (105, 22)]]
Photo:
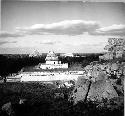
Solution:
[(112, 25), (96, 29), (96, 31), (90, 32), (91, 35), (109, 35), (109, 36), (125, 36), (125, 25)]

